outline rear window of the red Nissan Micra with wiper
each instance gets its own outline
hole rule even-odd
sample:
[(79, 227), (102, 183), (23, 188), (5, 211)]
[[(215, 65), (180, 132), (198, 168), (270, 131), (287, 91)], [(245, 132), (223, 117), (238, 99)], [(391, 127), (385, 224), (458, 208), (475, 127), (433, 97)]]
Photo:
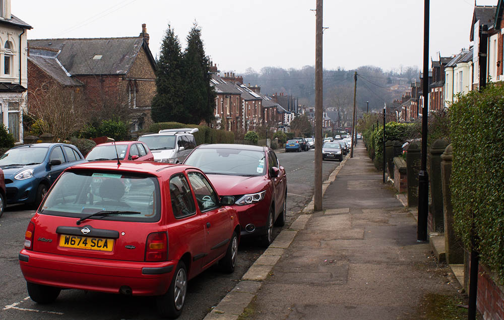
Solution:
[(100, 211), (130, 213), (97, 216), (97, 219), (142, 222), (159, 220), (157, 179), (117, 171), (67, 171), (52, 187), (40, 213), (82, 218)]

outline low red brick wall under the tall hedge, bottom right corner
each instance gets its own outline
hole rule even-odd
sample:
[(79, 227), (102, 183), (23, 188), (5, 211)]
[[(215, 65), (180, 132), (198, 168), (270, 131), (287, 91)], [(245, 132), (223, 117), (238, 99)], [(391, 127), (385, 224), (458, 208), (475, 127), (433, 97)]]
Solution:
[(479, 265), (477, 308), (485, 320), (504, 320), (504, 288), (490, 277), (486, 267)]

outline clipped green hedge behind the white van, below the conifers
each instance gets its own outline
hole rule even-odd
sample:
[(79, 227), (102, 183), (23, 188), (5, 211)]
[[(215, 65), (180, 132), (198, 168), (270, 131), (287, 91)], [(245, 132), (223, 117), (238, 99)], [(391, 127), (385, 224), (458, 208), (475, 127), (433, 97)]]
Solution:
[(196, 144), (234, 143), (234, 134), (230, 131), (215, 130), (206, 125), (184, 124), (180, 122), (157, 122), (149, 126), (149, 132), (158, 133), (164, 129), (198, 128), (194, 133)]

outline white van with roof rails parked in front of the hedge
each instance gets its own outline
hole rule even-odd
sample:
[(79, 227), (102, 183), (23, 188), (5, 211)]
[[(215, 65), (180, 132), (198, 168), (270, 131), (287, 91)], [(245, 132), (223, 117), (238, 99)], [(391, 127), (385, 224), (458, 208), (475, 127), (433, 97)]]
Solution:
[(155, 162), (182, 163), (196, 148), (195, 132), (198, 132), (197, 128), (165, 129), (141, 136), (138, 141), (149, 147)]

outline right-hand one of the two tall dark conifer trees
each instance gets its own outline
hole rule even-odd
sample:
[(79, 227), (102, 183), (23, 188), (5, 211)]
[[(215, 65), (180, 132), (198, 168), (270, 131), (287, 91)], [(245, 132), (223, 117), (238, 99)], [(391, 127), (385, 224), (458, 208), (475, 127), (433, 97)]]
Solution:
[(191, 110), (190, 122), (207, 123), (213, 120), (215, 90), (210, 86), (210, 59), (205, 55), (201, 40), (201, 28), (195, 22), (187, 35), (187, 47), (182, 56), (184, 75), (184, 99), (186, 110)]

